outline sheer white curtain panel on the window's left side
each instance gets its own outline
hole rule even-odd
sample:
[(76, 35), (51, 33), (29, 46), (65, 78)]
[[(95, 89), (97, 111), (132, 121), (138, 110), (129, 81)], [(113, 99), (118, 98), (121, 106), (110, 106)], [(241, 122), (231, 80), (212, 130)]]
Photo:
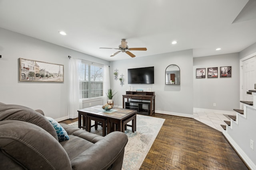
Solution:
[(79, 63), (80, 59), (70, 58), (69, 62), (69, 100), (68, 100), (68, 118), (78, 117), (77, 110), (81, 109), (82, 100), (79, 96)]

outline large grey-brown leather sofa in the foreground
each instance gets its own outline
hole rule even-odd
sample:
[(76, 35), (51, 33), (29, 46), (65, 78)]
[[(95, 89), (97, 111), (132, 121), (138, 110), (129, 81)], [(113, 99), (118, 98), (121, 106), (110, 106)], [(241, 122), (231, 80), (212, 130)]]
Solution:
[(59, 141), (43, 111), (0, 103), (0, 169), (120, 170), (128, 141), (122, 132), (105, 137), (61, 124)]

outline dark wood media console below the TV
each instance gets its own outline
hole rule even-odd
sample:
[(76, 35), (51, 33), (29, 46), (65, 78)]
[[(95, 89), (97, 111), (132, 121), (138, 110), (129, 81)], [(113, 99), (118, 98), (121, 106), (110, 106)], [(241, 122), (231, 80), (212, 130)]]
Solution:
[[(138, 113), (152, 116), (155, 113), (155, 97), (155, 92), (126, 91), (126, 94), (123, 95), (123, 108), (137, 110)], [(126, 102), (124, 98), (127, 99)], [(142, 102), (142, 100), (149, 100), (149, 102)], [(148, 109), (143, 109), (142, 105), (147, 105)]]

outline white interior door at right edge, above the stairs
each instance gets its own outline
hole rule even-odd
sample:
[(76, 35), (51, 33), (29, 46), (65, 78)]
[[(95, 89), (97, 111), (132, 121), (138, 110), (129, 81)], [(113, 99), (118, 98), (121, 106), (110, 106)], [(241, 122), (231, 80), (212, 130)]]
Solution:
[(253, 101), (253, 97), (247, 94), (248, 90), (254, 89), (256, 83), (256, 56), (243, 61), (243, 95), (242, 100)]

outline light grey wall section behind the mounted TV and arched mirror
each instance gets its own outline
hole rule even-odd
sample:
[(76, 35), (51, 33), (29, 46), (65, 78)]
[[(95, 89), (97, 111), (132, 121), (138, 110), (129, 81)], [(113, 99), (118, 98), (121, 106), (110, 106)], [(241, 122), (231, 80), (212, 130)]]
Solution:
[[(156, 95), (156, 113), (172, 115), (193, 115), (193, 56), (192, 50), (177, 51), (127, 60), (112, 61), (110, 65), (110, 86), (118, 94), (114, 105), (122, 106), (122, 95), (131, 86), (131, 90), (151, 88)], [(165, 69), (170, 64), (180, 67), (180, 85), (165, 85)], [(154, 84), (128, 84), (127, 69), (154, 66)], [(118, 78), (124, 74), (124, 86), (114, 80), (114, 70), (118, 69)]]

